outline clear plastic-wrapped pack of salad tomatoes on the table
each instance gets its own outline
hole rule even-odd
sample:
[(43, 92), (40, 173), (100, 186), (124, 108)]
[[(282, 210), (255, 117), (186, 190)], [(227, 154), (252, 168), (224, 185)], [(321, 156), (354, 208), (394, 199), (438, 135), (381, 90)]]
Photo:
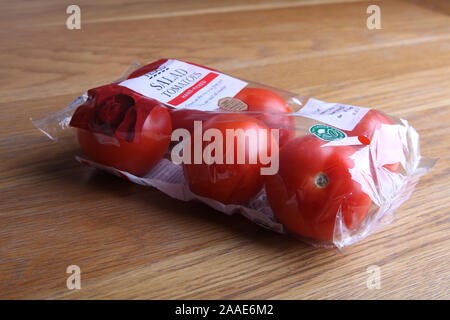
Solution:
[(84, 165), (320, 247), (392, 220), (434, 164), (407, 121), (179, 60), (134, 64), (34, 124)]

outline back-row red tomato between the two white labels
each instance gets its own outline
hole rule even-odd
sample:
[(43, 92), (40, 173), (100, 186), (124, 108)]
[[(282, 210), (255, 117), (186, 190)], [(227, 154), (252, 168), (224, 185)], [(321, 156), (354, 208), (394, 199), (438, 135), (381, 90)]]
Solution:
[(295, 136), (295, 122), (291, 109), (277, 93), (264, 88), (244, 88), (235, 96), (248, 105), (249, 112), (262, 112), (259, 120), (269, 128), (280, 128), (280, 147)]

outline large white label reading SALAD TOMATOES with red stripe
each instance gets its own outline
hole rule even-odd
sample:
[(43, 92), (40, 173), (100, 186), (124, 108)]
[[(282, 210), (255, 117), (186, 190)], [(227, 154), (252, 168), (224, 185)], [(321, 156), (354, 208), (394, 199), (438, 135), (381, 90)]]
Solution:
[(174, 108), (211, 111), (225, 97), (234, 97), (247, 82), (178, 60), (119, 83)]

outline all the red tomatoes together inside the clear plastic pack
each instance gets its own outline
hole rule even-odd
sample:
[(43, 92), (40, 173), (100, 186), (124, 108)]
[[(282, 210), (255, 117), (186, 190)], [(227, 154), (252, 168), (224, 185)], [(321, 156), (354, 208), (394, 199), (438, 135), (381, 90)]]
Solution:
[[(129, 76), (137, 77), (158, 68), (165, 60), (144, 66)], [(83, 152), (93, 161), (127, 171), (134, 175), (149, 172), (167, 153), (174, 129), (194, 130), (194, 120), (202, 120), (203, 132), (214, 128), (223, 136), (229, 129), (279, 129), (277, 150), (259, 141), (234, 140), (233, 149), (223, 142), (222, 163), (183, 164), (191, 191), (224, 204), (243, 204), (265, 188), (277, 219), (289, 230), (314, 239), (332, 240), (338, 212), (348, 229), (356, 228), (368, 214), (371, 198), (351, 175), (357, 164), (352, 157), (353, 146), (326, 146), (313, 135), (296, 136), (294, 117), (277, 93), (263, 88), (244, 88), (236, 96), (248, 110), (212, 113), (197, 110), (171, 109), (156, 100), (110, 84), (92, 89), (89, 98), (71, 120), (77, 128)], [(370, 139), (382, 124), (392, 124), (381, 113), (371, 110), (349, 136)], [(270, 132), (270, 130), (268, 130)], [(256, 137), (255, 139), (258, 139)], [(245, 143), (242, 149), (237, 143)], [(257, 148), (249, 148), (254, 144)], [(203, 142), (206, 148), (207, 142)], [(265, 150), (261, 150), (265, 148)], [(279, 170), (274, 175), (261, 175), (267, 166), (258, 161), (227, 163), (227, 153), (279, 152)], [(237, 157), (232, 154), (231, 157)], [(386, 165), (395, 172), (399, 164)]]

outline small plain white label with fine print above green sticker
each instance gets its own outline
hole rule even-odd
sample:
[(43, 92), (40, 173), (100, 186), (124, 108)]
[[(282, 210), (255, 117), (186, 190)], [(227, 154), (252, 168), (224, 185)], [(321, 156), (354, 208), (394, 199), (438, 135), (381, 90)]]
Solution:
[(369, 110), (370, 108), (328, 103), (310, 98), (296, 114), (351, 131)]

